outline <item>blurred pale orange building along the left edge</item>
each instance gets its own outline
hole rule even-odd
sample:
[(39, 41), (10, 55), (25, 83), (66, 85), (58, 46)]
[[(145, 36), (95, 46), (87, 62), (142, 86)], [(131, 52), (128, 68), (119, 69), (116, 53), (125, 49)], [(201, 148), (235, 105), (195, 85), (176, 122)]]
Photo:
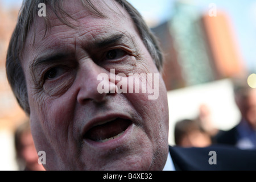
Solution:
[(5, 71), (7, 47), (17, 16), (18, 9), (4, 9), (0, 4), (0, 129), (12, 130), (26, 118), (11, 92)]

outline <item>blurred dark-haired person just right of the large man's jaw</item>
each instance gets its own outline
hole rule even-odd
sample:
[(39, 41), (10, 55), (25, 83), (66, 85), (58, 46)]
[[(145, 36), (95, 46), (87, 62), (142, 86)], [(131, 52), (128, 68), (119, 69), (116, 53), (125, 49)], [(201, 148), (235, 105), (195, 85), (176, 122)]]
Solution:
[(209, 133), (191, 119), (176, 122), (174, 130), (175, 143), (182, 147), (207, 147), (212, 144)]

